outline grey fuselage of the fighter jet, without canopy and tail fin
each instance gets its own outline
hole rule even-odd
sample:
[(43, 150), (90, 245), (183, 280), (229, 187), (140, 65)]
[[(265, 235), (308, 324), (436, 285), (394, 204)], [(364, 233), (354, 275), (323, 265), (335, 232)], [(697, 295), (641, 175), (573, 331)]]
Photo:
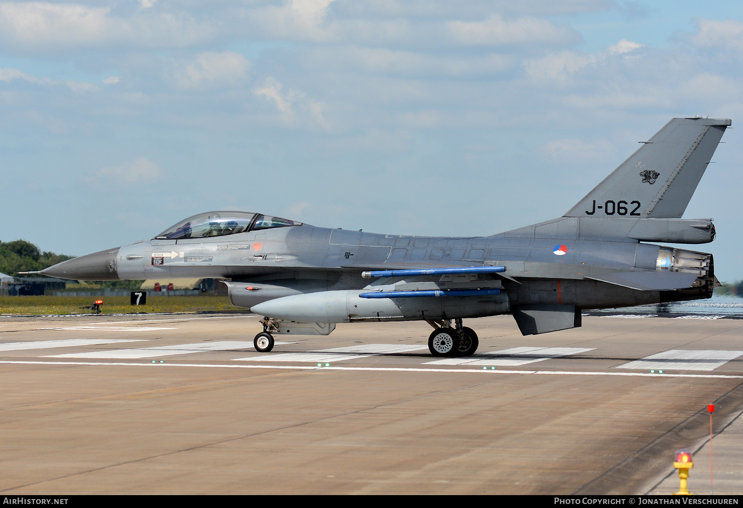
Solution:
[[(236, 295), (244, 293), (233, 298), (234, 304), (244, 307), (288, 295), (360, 290), (369, 285), (361, 277), (367, 269), (478, 265), (505, 267), (501, 281), (510, 305), (575, 305), (585, 310), (708, 297), (706, 286), (685, 292), (643, 291), (589, 279), (606, 273), (668, 270), (667, 250), (632, 241), (507, 233), (461, 238), (383, 235), (302, 224), (207, 238), (138, 241), (65, 261), (45, 273), (70, 279), (224, 279), (236, 283)], [(87, 271), (81, 275), (77, 267), (82, 266)], [(249, 293), (237, 287), (243, 282), (263, 282), (266, 287)]]

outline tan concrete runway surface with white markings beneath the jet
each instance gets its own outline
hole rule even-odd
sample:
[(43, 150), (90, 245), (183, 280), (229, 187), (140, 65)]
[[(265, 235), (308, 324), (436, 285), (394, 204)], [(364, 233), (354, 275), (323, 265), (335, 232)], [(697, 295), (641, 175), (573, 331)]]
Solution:
[(741, 319), (470, 319), (455, 359), (421, 322), (259, 354), (258, 319), (1, 318), (0, 492), (670, 494), (690, 448), (708, 493), (715, 403), (714, 493), (743, 493)]

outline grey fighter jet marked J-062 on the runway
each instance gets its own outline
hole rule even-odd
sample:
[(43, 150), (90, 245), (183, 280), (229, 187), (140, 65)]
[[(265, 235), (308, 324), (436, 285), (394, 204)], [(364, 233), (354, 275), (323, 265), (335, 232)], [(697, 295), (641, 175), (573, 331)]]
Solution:
[(511, 314), (522, 334), (580, 327), (581, 311), (704, 299), (713, 256), (648, 242), (713, 241), (681, 215), (730, 120), (674, 118), (562, 217), (481, 237), (384, 235), (256, 212), (207, 212), (151, 240), (42, 270), (62, 279), (215, 278), (264, 316), (253, 340), (337, 323), (425, 321), (434, 356), (467, 356), (462, 320)]

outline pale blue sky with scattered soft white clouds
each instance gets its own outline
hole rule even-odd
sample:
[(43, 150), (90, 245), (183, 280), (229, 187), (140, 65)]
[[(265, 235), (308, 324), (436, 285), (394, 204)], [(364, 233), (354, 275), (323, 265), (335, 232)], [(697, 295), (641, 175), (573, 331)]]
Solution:
[(687, 248), (735, 281), (742, 94), (733, 0), (0, 0), (0, 240), (82, 255), (219, 209), (492, 235), (701, 115), (733, 128)]

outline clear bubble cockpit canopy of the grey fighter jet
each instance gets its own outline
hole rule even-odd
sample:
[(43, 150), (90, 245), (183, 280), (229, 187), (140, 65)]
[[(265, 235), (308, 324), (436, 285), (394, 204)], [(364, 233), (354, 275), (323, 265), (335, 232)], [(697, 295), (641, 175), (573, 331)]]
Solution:
[(208, 238), (288, 226), (302, 226), (302, 223), (254, 212), (206, 212), (173, 224), (155, 238)]

